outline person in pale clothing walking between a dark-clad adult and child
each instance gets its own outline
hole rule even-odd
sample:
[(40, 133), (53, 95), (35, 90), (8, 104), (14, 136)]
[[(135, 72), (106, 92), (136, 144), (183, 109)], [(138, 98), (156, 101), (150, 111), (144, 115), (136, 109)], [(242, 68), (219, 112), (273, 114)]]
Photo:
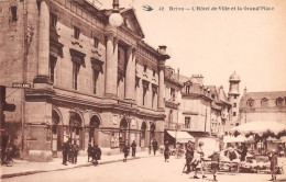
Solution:
[(193, 159), (193, 163), (191, 163), (191, 164), (196, 166), (195, 167), (196, 170), (195, 170), (194, 179), (199, 179), (198, 175), (197, 175), (197, 173), (198, 173), (198, 171), (197, 171), (198, 163), (200, 163), (200, 166), (201, 166), (200, 167), (200, 171), (201, 171), (202, 179), (207, 178), (205, 175), (205, 161), (204, 161), (205, 152), (202, 150), (202, 146), (204, 146), (204, 143), (199, 141), (199, 145), (198, 145), (198, 147), (195, 150), (196, 155), (194, 153), (194, 159)]

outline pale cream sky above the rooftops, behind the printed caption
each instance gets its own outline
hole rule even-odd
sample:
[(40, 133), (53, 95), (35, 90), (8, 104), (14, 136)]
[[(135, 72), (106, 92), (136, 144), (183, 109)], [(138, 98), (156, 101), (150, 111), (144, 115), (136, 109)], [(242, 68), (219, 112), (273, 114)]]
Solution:
[[(112, 0), (100, 1), (101, 9), (112, 7)], [(145, 4), (154, 10), (143, 10)], [(135, 9), (144, 41), (155, 48), (166, 45), (172, 57), (166, 65), (182, 75), (202, 75), (205, 86), (228, 92), (235, 71), (241, 93), (245, 87), (286, 91), (286, 0), (120, 0), (120, 7)], [(207, 10), (193, 10), (197, 7)], [(257, 7), (273, 10), (249, 10)]]

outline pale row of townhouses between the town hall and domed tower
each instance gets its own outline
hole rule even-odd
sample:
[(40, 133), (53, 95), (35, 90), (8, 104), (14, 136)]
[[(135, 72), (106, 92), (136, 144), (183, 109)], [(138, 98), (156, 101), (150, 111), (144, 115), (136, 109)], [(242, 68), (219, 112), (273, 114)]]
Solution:
[(218, 138), (228, 132), (232, 105), (222, 87), (204, 86), (201, 75), (189, 78), (170, 67), (165, 69), (165, 140)]

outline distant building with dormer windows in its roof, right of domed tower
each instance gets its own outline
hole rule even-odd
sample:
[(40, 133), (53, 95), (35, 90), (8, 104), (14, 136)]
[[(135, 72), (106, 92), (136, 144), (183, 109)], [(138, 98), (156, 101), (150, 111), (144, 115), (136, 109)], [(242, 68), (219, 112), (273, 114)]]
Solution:
[(240, 123), (249, 122), (286, 123), (286, 91), (248, 92), (240, 101)]

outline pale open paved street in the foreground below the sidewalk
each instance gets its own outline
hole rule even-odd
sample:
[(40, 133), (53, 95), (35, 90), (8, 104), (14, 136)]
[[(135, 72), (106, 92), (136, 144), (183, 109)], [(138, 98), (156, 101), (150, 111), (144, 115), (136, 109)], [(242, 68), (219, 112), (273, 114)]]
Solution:
[[(208, 174), (205, 180), (193, 179), (194, 173), (182, 173), (184, 159), (170, 158), (164, 162), (163, 157), (143, 158), (128, 162), (116, 162), (100, 164), (97, 167), (82, 167), (64, 171), (44, 172), (31, 175), (2, 179), (3, 182), (58, 182), (58, 181), (99, 181), (99, 182), (189, 182), (189, 181), (212, 181)], [(199, 174), (199, 177), (201, 177)], [(219, 182), (266, 182), (268, 174), (220, 174)]]

